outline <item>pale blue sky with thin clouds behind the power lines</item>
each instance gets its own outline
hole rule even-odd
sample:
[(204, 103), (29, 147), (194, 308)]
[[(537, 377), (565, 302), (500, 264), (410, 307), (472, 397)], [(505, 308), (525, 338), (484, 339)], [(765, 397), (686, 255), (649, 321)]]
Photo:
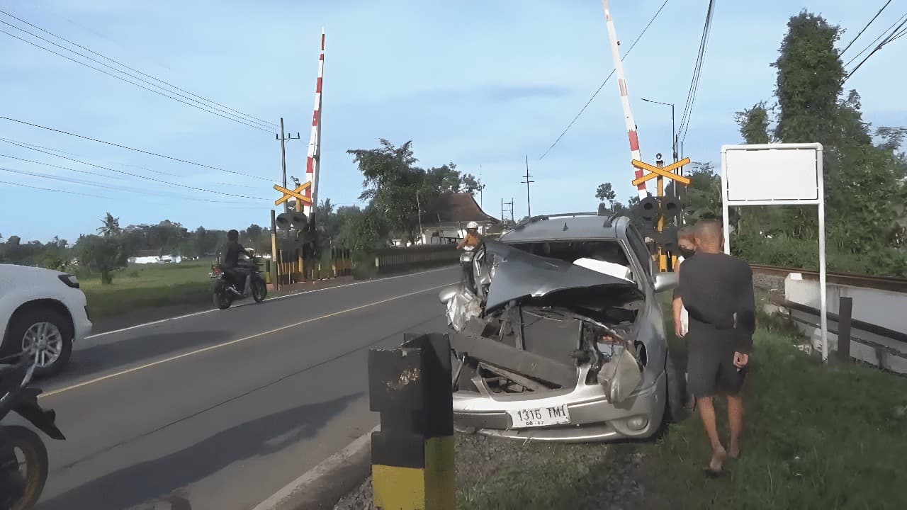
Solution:
[[(623, 48), (662, 1), (611, 1)], [(707, 4), (669, 1), (625, 61), (647, 161), (656, 152), (670, 153), (670, 109), (640, 98), (676, 103), (679, 123)], [(722, 144), (740, 142), (734, 112), (772, 99), (775, 73), (769, 63), (790, 15), (804, 7), (821, 13), (844, 26), (844, 41), (849, 41), (883, 2), (870, 4), (861, 11), (844, 0), (774, 0), (758, 6), (718, 1), (686, 154), (694, 161), (715, 161)], [(904, 5), (895, 4), (901, 5), (889, 6), (856, 49), (903, 14)], [(634, 193), (614, 82), (539, 161), (612, 68), (604, 14), (595, 0), (15, 0), (3, 9), (231, 108), (275, 122), (283, 116), (289, 132), (302, 134), (302, 141), (288, 144), (288, 174), (297, 177), (305, 172), (324, 26), (319, 192), (336, 204), (356, 203), (361, 191), (361, 177), (346, 150), (373, 148), (379, 138), (396, 144), (412, 140), (424, 166), (455, 162), (459, 170), (478, 174), (481, 164), (487, 185), (483, 205), (493, 215), (500, 213), (502, 198), (515, 199), (518, 218), (525, 214), (520, 181), (527, 154), (535, 213), (594, 210), (595, 188), (603, 181), (613, 182), (621, 199)], [(15, 23), (3, 15), (0, 19)], [(7, 25), (0, 29), (24, 36)], [(848, 82), (862, 94), (864, 117), (875, 125), (907, 124), (907, 95), (899, 84), (907, 78), (905, 54), (907, 42), (892, 43)], [(67, 157), (124, 172), (267, 199), (172, 188), (0, 142), (0, 154), (120, 179), (5, 157), (0, 157), (0, 168), (169, 195), (0, 172), (0, 181), (96, 195), (0, 183), (0, 234), (24, 240), (60, 235), (74, 241), (79, 233), (93, 231), (107, 211), (119, 216), (122, 225), (163, 219), (190, 229), (268, 224), (268, 210), (277, 198), (271, 185), (280, 179), (273, 133), (200, 112), (5, 34), (0, 34), (0, 75), (0, 115), (273, 180), (211, 171), (0, 120), (0, 138), (78, 154)]]

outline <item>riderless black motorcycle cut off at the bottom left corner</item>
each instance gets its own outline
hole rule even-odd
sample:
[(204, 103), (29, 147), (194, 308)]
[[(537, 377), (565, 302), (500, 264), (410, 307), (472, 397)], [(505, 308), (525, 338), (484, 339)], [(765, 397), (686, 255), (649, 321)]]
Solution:
[[(66, 437), (54, 423), (54, 410), (38, 404), (41, 390), (28, 386), (37, 357), (15, 358), (15, 364), (0, 365), (0, 420), (13, 411), (47, 436), (64, 440)], [(0, 359), (0, 363), (6, 360)], [(31, 428), (0, 425), (0, 510), (34, 508), (44, 490), (48, 468), (47, 448), (41, 436)]]

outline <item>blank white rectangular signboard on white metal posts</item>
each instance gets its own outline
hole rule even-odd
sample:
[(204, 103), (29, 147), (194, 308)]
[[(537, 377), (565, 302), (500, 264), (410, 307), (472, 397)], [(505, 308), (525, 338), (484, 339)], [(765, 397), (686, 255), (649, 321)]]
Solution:
[(725, 252), (730, 253), (728, 210), (745, 205), (815, 205), (819, 210), (819, 302), (822, 360), (828, 360), (825, 290), (825, 199), (821, 143), (767, 143), (721, 147), (721, 201)]

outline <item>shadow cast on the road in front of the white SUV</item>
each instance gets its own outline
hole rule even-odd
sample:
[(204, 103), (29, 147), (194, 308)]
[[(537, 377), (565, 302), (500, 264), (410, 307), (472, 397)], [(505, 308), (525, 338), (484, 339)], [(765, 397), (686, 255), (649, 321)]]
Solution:
[(70, 359), (69, 367), (63, 373), (63, 378), (82, 378), (103, 370), (141, 363), (180, 350), (207, 347), (227, 339), (229, 339), (228, 331), (187, 330), (139, 335), (116, 342), (97, 344), (90, 348), (80, 348), (73, 350), (73, 358)]

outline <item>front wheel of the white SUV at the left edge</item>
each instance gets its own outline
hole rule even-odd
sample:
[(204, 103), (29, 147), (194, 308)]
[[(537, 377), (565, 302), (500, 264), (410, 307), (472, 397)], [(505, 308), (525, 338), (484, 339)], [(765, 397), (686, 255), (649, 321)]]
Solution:
[(21, 349), (23, 356), (37, 358), (34, 374), (54, 376), (66, 366), (73, 353), (73, 327), (55, 309), (26, 309), (14, 318), (10, 329), (12, 346)]

